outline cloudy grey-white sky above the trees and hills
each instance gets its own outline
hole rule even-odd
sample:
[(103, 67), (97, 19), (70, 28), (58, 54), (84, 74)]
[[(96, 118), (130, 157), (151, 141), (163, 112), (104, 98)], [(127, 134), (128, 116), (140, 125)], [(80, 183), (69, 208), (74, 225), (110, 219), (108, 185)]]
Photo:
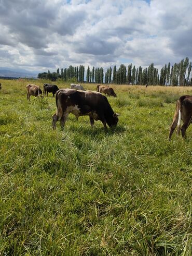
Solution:
[(192, 60), (191, 0), (0, 0), (0, 68)]

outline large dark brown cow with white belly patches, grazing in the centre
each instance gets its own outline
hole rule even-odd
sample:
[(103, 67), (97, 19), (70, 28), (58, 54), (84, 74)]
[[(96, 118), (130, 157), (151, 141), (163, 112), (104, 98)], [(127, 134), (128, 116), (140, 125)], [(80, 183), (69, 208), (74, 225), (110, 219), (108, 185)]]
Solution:
[(93, 127), (94, 120), (101, 120), (104, 128), (117, 126), (118, 115), (114, 113), (107, 98), (98, 92), (60, 89), (56, 93), (57, 113), (52, 116), (52, 127), (60, 120), (61, 128), (70, 113), (78, 119), (79, 116), (89, 116)]

